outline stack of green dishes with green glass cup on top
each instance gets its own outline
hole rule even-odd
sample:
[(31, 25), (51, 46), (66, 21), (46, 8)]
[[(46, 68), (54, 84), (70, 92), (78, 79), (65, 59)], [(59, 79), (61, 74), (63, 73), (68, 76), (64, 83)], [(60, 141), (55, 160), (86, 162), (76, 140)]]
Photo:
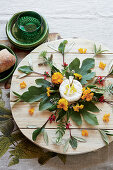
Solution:
[[(30, 38), (29, 36), (30, 34), (27, 34), (27, 39), (26, 39), (26, 37), (24, 37), (26, 36), (25, 33), (22, 34), (20, 32), (20, 31), (24, 32), (25, 30), (23, 30), (23, 27), (22, 27), (22, 24), (23, 24), (22, 20), (19, 20), (19, 17), (24, 14), (31, 15), (31, 16), (37, 15), (38, 17), (40, 16), (38, 13), (33, 12), (33, 11), (23, 11), (23, 12), (16, 13), (6, 25), (6, 34), (10, 42), (13, 45), (15, 45), (17, 48), (24, 49), (24, 50), (31, 50), (46, 41), (48, 37), (48, 33), (49, 33), (49, 27), (44, 17), (40, 16), (41, 25), (39, 25), (39, 27), (37, 28), (37, 30), (40, 29), (40, 32), (38, 32), (37, 34), (38, 36), (36, 35), (34, 36), (34, 38)], [(23, 18), (25, 18), (25, 16), (23, 16)], [(27, 20), (26, 18), (25, 20)], [(20, 29), (18, 29), (18, 27), (20, 27)], [(31, 28), (33, 28), (33, 25), (31, 26)], [(26, 29), (30, 30), (30, 25), (28, 25)], [(36, 34), (36, 31), (34, 30), (35, 34)]]

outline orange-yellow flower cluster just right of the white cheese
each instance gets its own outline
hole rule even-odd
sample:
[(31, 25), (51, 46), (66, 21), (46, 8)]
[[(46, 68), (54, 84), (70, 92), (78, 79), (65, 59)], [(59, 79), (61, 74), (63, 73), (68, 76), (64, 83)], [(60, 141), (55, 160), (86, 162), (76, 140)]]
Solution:
[(91, 89), (87, 87), (87, 89), (85, 89), (85, 87), (82, 89), (83, 90), (83, 95), (82, 95), (82, 99), (86, 100), (86, 101), (91, 101), (93, 96), (94, 96), (94, 93), (91, 93)]

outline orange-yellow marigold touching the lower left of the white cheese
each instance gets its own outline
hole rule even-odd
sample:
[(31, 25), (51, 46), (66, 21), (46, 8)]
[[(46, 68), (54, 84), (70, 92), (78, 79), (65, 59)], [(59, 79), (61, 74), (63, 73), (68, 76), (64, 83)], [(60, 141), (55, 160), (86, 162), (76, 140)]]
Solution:
[(61, 98), (59, 101), (58, 101), (58, 105), (57, 105), (57, 108), (59, 109), (63, 109), (65, 111), (68, 110), (68, 101), (64, 98)]

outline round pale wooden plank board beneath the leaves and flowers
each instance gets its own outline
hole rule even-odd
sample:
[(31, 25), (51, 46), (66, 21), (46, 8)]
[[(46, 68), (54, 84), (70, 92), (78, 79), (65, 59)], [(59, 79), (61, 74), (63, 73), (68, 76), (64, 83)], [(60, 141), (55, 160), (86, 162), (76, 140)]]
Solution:
[[(80, 61), (82, 61), (85, 58), (90, 58), (90, 57), (94, 56), (93, 47), (94, 47), (95, 42), (90, 41), (90, 40), (85, 40), (85, 39), (67, 39), (67, 40), (68, 40), (68, 45), (66, 47), (67, 49), (71, 43), (74, 42), (74, 45), (71, 48), (71, 50), (65, 54), (65, 62), (66, 63), (69, 64), (75, 57), (78, 57), (80, 59)], [(42, 59), (39, 57), (39, 54), (40, 54), (40, 52), (46, 50), (48, 57), (51, 55), (51, 53), (53, 54), (53, 62), (59, 69), (61, 69), (62, 68), (62, 55), (55, 52), (54, 50), (52, 50), (50, 47), (48, 47), (48, 45), (57, 49), (58, 45), (62, 41), (63, 40), (56, 40), (56, 41), (47, 42), (45, 44), (40, 45), (39, 47), (34, 49), (29, 55), (27, 55), (21, 61), (21, 63), (18, 65), (18, 67), (23, 66), (23, 65), (28, 65), (29, 58), (30, 58), (33, 63), (33, 69), (35, 71), (40, 72), (40, 73), (44, 73), (44, 71), (50, 72), (50, 70), (47, 66), (40, 66), (40, 67), (38, 66), (38, 63), (42, 62)], [(108, 50), (107, 47), (103, 46), (100, 43), (95, 43), (95, 44), (97, 45), (97, 48), (101, 45), (103, 50)], [(86, 48), (87, 53), (80, 54), (78, 52), (79, 48)], [(94, 71), (96, 72), (96, 76), (100, 76), (100, 75), (106, 76), (108, 74), (109, 63), (111, 62), (112, 59), (113, 59), (113, 51), (110, 51), (110, 50), (106, 51), (102, 55), (98, 55), (98, 57), (95, 57)], [(103, 61), (107, 65), (104, 71), (98, 67), (100, 61)], [(16, 98), (13, 95), (12, 91), (22, 94), (23, 92), (27, 91), (29, 86), (36, 85), (35, 80), (38, 78), (38, 76), (36, 74), (31, 74), (27, 77), (19, 79), (18, 76), (20, 76), (20, 75), (22, 75), (22, 73), (18, 72), (18, 68), (17, 68), (13, 75), (12, 83), (11, 83), (10, 104), (11, 104), (11, 108), (12, 108), (13, 117), (14, 117), (18, 127), (20, 128), (21, 132), (28, 139), (30, 139), (32, 141), (32, 132), (36, 129), (36, 127), (41, 127), (45, 123), (45, 121), (50, 116), (50, 113), (48, 111), (40, 112), (38, 110), (38, 102), (34, 103), (32, 105), (30, 105), (28, 103), (24, 103), (24, 102), (19, 102), (19, 103), (15, 104), (14, 100)], [(20, 83), (22, 81), (25, 81), (27, 84), (27, 87), (25, 89), (20, 89)], [(113, 81), (112, 78), (108, 78), (106, 83), (109, 83), (111, 81)], [(112, 97), (110, 98), (110, 100), (113, 100)], [(28, 113), (28, 110), (32, 106), (35, 108), (35, 112), (34, 112), (33, 116), (30, 116)], [(105, 143), (103, 142), (101, 135), (98, 132), (97, 128), (113, 130), (113, 115), (111, 114), (112, 108), (107, 103), (98, 103), (98, 107), (101, 108), (101, 111), (99, 113), (95, 113), (95, 114), (97, 115), (99, 125), (92, 127), (83, 121), (82, 125), (80, 127), (78, 127), (73, 121), (71, 121), (72, 135), (81, 137), (81, 130), (83, 128), (86, 128), (89, 133), (88, 137), (84, 137), (87, 140), (87, 142), (86, 143), (78, 143), (77, 149), (74, 150), (71, 147), (69, 147), (67, 152), (64, 153), (62, 145), (56, 146), (53, 144), (52, 140), (54, 140), (54, 138), (56, 137), (56, 134), (55, 134), (56, 123), (52, 123), (52, 124), (48, 123), (46, 126), (46, 131), (49, 136), (49, 144), (48, 145), (46, 145), (44, 143), (43, 137), (41, 135), (39, 135), (37, 137), (37, 140), (35, 142), (34, 141), (32, 141), (32, 142), (35, 143), (36, 145), (39, 145), (39, 146), (46, 148), (48, 150), (62, 153), (62, 154), (69, 154), (69, 155), (82, 154), (82, 153), (91, 152), (91, 151), (97, 150), (99, 148), (102, 148), (103, 146), (105, 146)], [(105, 113), (110, 113), (110, 121), (107, 124), (104, 123), (102, 120), (103, 115)], [(68, 137), (69, 137), (69, 131), (66, 130), (64, 139), (67, 139)], [(110, 137), (110, 142), (111, 141), (113, 141), (113, 137)]]

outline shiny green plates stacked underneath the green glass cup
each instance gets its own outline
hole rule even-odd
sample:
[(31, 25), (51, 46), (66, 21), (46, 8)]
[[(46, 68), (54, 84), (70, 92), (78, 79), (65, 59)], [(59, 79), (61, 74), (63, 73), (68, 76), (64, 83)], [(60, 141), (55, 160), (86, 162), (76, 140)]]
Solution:
[(40, 34), (40, 36), (37, 38), (37, 40), (35, 40), (34, 42), (22, 41), (19, 36), (16, 37), (17, 28), (15, 25), (16, 25), (18, 17), (25, 12), (30, 13), (33, 11), (23, 11), (23, 12), (19, 12), (13, 15), (13, 17), (9, 20), (9, 22), (6, 25), (6, 34), (10, 42), (13, 45), (15, 45), (17, 48), (24, 49), (24, 50), (31, 50), (46, 41), (48, 37), (48, 33), (49, 33), (49, 27), (48, 27), (47, 21), (44, 19), (44, 17), (41, 16), (42, 22), (43, 22), (43, 26), (42, 26), (43, 31)]

